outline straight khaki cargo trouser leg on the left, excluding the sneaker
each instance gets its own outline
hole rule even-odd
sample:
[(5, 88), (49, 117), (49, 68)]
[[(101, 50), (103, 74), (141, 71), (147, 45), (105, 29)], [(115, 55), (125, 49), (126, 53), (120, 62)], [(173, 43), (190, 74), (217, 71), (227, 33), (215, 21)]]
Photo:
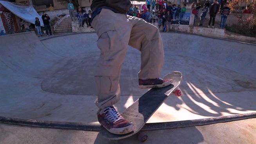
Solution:
[(119, 76), (128, 47), (132, 23), (127, 21), (125, 14), (102, 9), (92, 24), (99, 36), (97, 47), (101, 50), (95, 70), (98, 90), (95, 103), (99, 108), (105, 108), (114, 105), (120, 99)]

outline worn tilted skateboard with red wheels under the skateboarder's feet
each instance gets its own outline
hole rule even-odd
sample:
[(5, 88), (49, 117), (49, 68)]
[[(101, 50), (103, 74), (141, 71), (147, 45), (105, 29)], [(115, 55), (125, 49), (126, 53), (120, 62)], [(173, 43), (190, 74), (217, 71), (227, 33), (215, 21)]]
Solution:
[[(100, 128), (100, 135), (109, 140), (119, 140), (130, 137), (138, 133), (141, 128), (146, 124), (151, 115), (164, 103), (170, 94), (176, 96), (181, 95), (181, 91), (177, 90), (182, 81), (181, 72), (171, 72), (167, 74), (164, 79), (172, 79), (173, 83), (163, 88), (151, 88), (148, 92), (142, 95), (131, 106), (124, 110), (121, 115), (129, 122), (132, 122), (135, 129), (123, 135), (117, 135), (108, 132), (103, 126)], [(148, 136), (144, 132), (139, 132), (138, 139), (144, 142)]]

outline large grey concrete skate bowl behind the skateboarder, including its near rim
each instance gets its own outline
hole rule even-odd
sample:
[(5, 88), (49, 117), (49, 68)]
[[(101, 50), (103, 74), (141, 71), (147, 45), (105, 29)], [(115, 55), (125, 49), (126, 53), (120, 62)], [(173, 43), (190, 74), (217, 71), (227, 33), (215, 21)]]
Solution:
[[(162, 76), (180, 71), (182, 96), (171, 95), (144, 130), (199, 126), (256, 117), (256, 46), (182, 33), (161, 33)], [(34, 32), (0, 36), (0, 122), (99, 130), (94, 104), (97, 35), (38, 40)], [(119, 112), (147, 90), (138, 88), (140, 52), (128, 47)]]

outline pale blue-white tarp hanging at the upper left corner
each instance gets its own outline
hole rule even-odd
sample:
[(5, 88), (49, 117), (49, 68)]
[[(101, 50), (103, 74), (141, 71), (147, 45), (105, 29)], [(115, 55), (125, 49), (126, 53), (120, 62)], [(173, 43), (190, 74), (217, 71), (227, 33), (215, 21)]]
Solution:
[(0, 4), (4, 5), (6, 9), (14, 13), (16, 16), (22, 18), (23, 20), (30, 22), (30, 23), (35, 23), (36, 17), (39, 18), (41, 26), (43, 26), (43, 20), (41, 16), (36, 12), (34, 7), (32, 5), (30, 6), (19, 6), (15, 5), (11, 2), (6, 2), (0, 0)]

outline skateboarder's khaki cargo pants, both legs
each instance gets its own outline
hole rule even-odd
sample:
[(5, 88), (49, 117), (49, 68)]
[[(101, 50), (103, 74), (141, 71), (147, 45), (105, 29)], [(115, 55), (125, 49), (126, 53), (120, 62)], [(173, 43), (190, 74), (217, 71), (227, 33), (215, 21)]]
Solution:
[(117, 103), (120, 99), (119, 77), (128, 45), (141, 51), (140, 79), (160, 76), (164, 51), (159, 30), (143, 19), (102, 9), (92, 21), (101, 50), (96, 64), (95, 81), (99, 108)]

